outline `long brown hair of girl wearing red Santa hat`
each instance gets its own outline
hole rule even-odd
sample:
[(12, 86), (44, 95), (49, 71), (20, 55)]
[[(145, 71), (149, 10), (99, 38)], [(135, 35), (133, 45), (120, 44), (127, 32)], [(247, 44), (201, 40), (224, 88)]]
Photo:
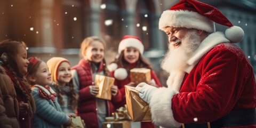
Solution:
[[(127, 66), (130, 65), (129, 62), (127, 62), (124, 59), (124, 50), (119, 54), (118, 58), (116, 58), (113, 62), (111, 63), (116, 63), (118, 66), (120, 66), (121, 68), (125, 68), (127, 70), (127, 73), (130, 73), (130, 69), (127, 68)], [(135, 68), (149, 68), (151, 70), (153, 70), (152, 66), (150, 65), (149, 62), (146, 61), (145, 58), (142, 57), (142, 55), (140, 54), (139, 59), (137, 61), (137, 64), (135, 66)]]

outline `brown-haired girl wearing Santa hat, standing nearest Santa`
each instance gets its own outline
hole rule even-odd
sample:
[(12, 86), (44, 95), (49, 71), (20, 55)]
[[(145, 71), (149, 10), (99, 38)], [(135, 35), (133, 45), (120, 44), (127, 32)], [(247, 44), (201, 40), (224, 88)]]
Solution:
[[(152, 81), (148, 82), (149, 85), (161, 87), (154, 70), (149, 65), (149, 63), (142, 57), (144, 46), (139, 37), (134, 37), (130, 35), (124, 36), (122, 41), (119, 43), (118, 55), (119, 57), (115, 59), (109, 67), (114, 67), (110, 69), (110, 76), (116, 78), (115, 85), (122, 94), (122, 102), (116, 105), (116, 108), (124, 106), (126, 104), (125, 99), (125, 88), (124, 85), (136, 86), (135, 83), (131, 82), (130, 70), (133, 68), (148, 68), (151, 70)], [(118, 69), (117, 69), (118, 68)], [(154, 127), (151, 122), (141, 122), (141, 127)]]

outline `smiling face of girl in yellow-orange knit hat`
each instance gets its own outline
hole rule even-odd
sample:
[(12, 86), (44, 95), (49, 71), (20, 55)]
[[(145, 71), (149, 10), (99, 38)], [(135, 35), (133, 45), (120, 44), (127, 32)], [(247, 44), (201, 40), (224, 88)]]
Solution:
[(68, 83), (70, 82), (72, 75), (70, 71), (70, 65), (68, 62), (62, 62), (58, 68), (58, 82), (59, 83)]

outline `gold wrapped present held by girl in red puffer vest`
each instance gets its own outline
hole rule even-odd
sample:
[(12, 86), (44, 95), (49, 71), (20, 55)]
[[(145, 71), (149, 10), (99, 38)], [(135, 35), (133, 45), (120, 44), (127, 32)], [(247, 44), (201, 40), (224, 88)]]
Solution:
[(96, 95), (97, 98), (111, 100), (111, 86), (114, 84), (115, 78), (95, 75), (95, 86), (99, 87), (99, 93)]

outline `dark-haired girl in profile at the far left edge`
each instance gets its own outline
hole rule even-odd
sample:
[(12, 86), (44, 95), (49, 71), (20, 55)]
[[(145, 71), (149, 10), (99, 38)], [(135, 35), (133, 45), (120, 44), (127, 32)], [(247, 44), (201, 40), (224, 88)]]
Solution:
[(27, 73), (28, 60), (26, 44), (23, 42), (3, 41), (0, 43), (3, 68), (11, 78), (17, 93), (20, 127), (30, 128), (30, 118), (35, 112), (35, 102), (24, 75)]

